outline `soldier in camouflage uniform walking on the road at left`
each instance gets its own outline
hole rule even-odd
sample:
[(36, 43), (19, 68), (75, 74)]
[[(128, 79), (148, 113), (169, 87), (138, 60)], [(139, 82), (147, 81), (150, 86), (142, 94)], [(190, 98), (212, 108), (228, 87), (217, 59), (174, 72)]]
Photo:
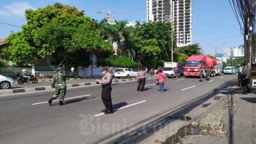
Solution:
[(67, 92), (67, 84), (65, 74), (61, 67), (58, 67), (56, 74), (51, 79), (51, 88), (55, 88), (55, 95), (49, 99), (49, 105), (51, 106), (52, 100), (60, 97), (60, 105), (63, 105), (63, 100)]

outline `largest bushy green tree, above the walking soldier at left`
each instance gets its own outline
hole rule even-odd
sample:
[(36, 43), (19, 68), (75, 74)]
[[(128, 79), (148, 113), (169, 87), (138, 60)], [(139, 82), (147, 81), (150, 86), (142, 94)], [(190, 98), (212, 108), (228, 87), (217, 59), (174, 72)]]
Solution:
[[(35, 48), (34, 57), (88, 66), (91, 53), (105, 57), (113, 53), (111, 43), (100, 39), (95, 22), (77, 8), (55, 3), (38, 10), (26, 10), (25, 16), (27, 24), (22, 26), (21, 37), (31, 48)], [(25, 51), (24, 47), (16, 49)], [(10, 51), (9, 46), (6, 53)], [(13, 61), (13, 58), (10, 57), (10, 60)]]

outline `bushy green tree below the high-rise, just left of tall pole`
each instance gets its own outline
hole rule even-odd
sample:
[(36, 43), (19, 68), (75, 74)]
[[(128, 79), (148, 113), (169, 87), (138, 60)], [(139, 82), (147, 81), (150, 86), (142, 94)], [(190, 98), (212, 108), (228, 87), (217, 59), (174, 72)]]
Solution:
[[(125, 49), (144, 66), (156, 67), (170, 60), (170, 24), (161, 21), (125, 29)], [(160, 62), (161, 61), (161, 62)]]

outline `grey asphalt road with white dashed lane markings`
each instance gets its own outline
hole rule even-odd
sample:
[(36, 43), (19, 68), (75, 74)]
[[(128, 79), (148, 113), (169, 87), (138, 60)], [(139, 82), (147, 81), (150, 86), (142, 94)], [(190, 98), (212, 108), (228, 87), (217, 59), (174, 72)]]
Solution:
[[(158, 91), (155, 80), (147, 80), (145, 91), (136, 91), (136, 82), (114, 83), (114, 114), (104, 115), (100, 85), (67, 89), (65, 105), (58, 101), (49, 107), (53, 90), (0, 96), (1, 143), (106, 143), (116, 134), (118, 142), (133, 136), (141, 127), (166, 111), (175, 111), (189, 101), (205, 95), (237, 75), (220, 75), (210, 81), (198, 78), (168, 79), (165, 93)], [(127, 133), (129, 132), (129, 133)], [(142, 134), (143, 135), (143, 134)], [(138, 143), (136, 136), (132, 143)], [(135, 138), (135, 137), (134, 137)], [(128, 143), (128, 142), (127, 142)]]

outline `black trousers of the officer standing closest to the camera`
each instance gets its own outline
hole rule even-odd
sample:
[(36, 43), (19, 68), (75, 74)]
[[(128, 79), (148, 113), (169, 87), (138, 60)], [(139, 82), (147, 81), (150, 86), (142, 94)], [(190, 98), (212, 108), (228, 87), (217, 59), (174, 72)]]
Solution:
[(111, 84), (102, 85), (102, 102), (105, 105), (106, 110), (113, 110), (111, 91)]

